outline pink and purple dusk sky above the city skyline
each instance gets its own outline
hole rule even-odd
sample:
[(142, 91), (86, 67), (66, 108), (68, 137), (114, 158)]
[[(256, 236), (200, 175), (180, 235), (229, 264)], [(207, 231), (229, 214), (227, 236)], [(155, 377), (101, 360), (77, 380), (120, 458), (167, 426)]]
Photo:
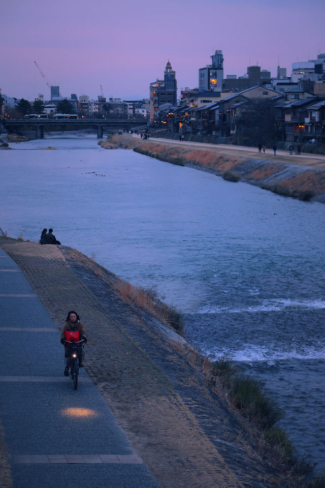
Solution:
[(4, 0), (0, 88), (8, 97), (149, 98), (168, 60), (178, 92), (198, 86), (198, 70), (221, 49), (224, 77), (258, 64), (280, 67), (325, 52), (323, 0)]

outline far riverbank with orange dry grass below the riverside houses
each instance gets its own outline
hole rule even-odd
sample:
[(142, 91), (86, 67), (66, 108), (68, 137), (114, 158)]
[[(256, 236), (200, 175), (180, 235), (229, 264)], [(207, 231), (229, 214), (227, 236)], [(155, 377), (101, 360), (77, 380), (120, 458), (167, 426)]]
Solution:
[(279, 195), (325, 203), (325, 157), (258, 154), (250, 148), (159, 140), (129, 135), (108, 136), (99, 144), (121, 147), (181, 166), (213, 172), (230, 181), (242, 181)]

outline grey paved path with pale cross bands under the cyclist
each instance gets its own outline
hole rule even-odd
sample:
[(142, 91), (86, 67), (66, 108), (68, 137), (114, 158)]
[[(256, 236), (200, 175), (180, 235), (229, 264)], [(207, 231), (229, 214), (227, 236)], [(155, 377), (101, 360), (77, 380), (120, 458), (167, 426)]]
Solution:
[(0, 419), (14, 488), (155, 488), (107, 403), (81, 370), (63, 376), (60, 332), (0, 248)]

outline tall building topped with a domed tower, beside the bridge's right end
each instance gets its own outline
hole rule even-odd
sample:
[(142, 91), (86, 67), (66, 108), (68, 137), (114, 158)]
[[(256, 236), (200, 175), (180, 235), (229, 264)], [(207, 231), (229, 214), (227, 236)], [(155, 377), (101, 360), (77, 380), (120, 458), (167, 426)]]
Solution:
[(176, 72), (173, 71), (172, 65), (168, 61), (164, 80), (153, 81), (150, 83), (150, 119), (154, 119), (155, 111), (158, 110), (160, 105), (169, 103), (176, 105), (177, 103), (177, 80)]

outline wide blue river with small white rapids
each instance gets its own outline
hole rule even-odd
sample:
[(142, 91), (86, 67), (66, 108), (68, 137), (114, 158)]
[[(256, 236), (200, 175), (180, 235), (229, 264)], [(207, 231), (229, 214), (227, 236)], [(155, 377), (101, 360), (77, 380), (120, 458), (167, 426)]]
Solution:
[[(0, 151), (0, 227), (53, 227), (179, 307), (189, 342), (231, 354), (325, 471), (325, 206), (61, 134)], [(52, 146), (56, 150), (43, 150)]]

